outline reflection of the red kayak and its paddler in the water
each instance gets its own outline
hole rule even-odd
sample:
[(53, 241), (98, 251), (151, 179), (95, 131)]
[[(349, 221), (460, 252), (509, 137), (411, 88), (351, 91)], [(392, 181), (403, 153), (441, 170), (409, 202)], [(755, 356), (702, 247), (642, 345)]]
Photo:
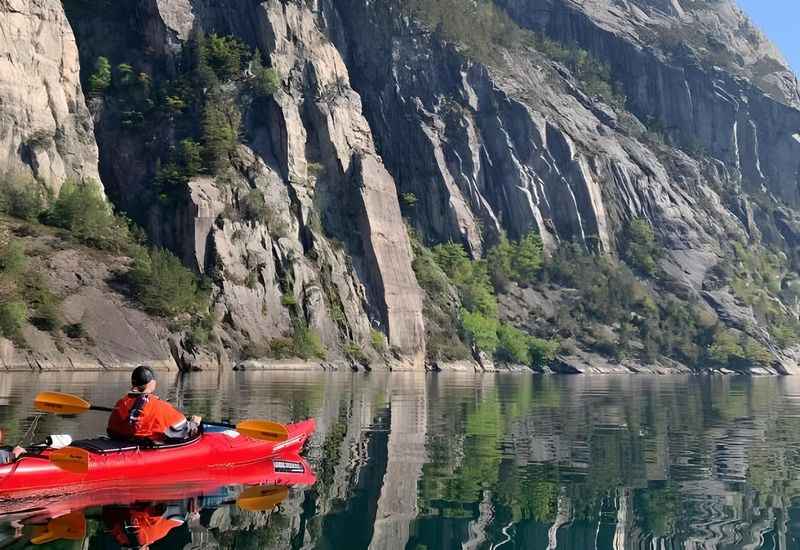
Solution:
[[(309, 486), (314, 472), (299, 455), (285, 454), (160, 487), (118, 487), (84, 494), (0, 502), (0, 548), (27, 543), (92, 548), (193, 547), (246, 518), (269, 524), (269, 514), (290, 494)], [(58, 542), (56, 542), (58, 541)], [(82, 541), (82, 542), (79, 542)], [(162, 542), (159, 542), (162, 541)], [(67, 545), (67, 546), (65, 546)]]

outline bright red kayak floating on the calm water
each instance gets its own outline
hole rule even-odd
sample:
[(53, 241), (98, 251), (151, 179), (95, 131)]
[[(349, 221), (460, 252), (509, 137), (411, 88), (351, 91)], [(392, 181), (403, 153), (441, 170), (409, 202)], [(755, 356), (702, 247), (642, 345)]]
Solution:
[(75, 441), (72, 447), (89, 451), (86, 473), (61, 469), (50, 462), (49, 451), (23, 456), (13, 464), (0, 466), (0, 498), (82, 493), (156, 478), (163, 483), (185, 472), (225, 472), (232, 466), (299, 452), (314, 433), (316, 423), (306, 420), (289, 424), (287, 429), (288, 439), (279, 443), (252, 439), (235, 430), (204, 433), (189, 442), (156, 448), (125, 446), (106, 438)]

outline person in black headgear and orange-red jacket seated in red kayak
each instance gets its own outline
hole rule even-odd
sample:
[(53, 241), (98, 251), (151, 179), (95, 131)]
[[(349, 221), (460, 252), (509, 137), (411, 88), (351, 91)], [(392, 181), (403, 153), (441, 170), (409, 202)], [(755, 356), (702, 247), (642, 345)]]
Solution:
[(191, 439), (200, 430), (202, 418), (187, 419), (175, 407), (155, 395), (156, 375), (138, 366), (131, 375), (131, 391), (120, 399), (108, 419), (108, 435), (115, 439), (153, 443)]

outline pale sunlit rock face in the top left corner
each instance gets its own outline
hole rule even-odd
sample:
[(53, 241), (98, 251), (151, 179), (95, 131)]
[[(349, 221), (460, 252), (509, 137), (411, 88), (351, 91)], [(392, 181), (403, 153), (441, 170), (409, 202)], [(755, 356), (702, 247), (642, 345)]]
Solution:
[(93, 178), (97, 145), (81, 91), (78, 48), (60, 2), (0, 1), (0, 173), (57, 191)]

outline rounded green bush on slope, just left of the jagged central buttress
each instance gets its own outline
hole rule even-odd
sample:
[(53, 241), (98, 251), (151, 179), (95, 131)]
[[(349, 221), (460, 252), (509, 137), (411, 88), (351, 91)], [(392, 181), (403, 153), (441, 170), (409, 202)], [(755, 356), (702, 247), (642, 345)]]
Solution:
[(197, 276), (163, 248), (139, 250), (126, 278), (133, 295), (150, 313), (175, 317), (206, 308), (208, 298)]

